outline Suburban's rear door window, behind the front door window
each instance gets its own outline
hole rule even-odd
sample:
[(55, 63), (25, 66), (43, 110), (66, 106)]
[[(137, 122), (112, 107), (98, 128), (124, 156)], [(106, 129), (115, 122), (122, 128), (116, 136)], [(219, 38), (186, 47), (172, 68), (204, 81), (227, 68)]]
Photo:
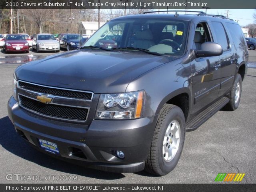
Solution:
[(214, 40), (214, 42), (220, 44), (222, 46), (223, 51), (228, 50), (228, 39), (223, 25), (220, 22), (212, 22), (212, 26), (215, 32), (215, 36), (217, 38), (216, 40)]

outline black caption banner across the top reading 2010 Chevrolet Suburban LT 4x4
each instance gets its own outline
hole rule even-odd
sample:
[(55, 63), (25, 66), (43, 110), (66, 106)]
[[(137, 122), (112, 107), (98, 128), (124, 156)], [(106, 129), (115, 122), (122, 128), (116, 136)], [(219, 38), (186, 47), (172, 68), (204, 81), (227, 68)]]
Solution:
[[(0, 0), (1, 9), (196, 9), (256, 8), (255, 0)], [(246, 14), (246, 13), (245, 13)]]

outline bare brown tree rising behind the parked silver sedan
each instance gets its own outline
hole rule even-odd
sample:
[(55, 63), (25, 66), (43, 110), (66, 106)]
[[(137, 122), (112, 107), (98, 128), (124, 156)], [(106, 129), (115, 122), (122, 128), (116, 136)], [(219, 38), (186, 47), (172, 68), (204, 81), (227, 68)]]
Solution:
[(29, 9), (27, 14), (33, 18), (39, 28), (39, 33), (42, 33), (46, 21), (51, 18), (51, 13), (50, 9)]

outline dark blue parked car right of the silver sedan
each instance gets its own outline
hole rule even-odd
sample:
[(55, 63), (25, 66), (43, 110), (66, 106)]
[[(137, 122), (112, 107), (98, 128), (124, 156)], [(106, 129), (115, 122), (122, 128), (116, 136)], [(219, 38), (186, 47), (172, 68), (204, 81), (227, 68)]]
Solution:
[(61, 48), (69, 50), (74, 50), (79, 47), (80, 39), (83, 38), (79, 34), (65, 34), (60, 38), (63, 44), (60, 45)]

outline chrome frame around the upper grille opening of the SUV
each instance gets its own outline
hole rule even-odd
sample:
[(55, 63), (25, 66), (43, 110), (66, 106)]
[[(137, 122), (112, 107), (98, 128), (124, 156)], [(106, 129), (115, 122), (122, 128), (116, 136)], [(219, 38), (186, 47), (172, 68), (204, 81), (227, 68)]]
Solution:
[[(29, 89), (21, 88), (19, 82), (24, 82), (24, 83), (27, 83), (27, 84), (32, 84), (32, 85), (41, 86), (41, 87), (46, 87), (46, 88), (61, 89), (61, 90), (67, 90), (67, 91), (76, 91), (76, 92), (84, 92), (84, 93), (91, 93), (91, 94), (92, 94), (91, 100), (88, 100), (88, 99), (79, 99), (79, 98), (69, 98), (69, 97), (64, 97), (64, 96), (56, 96), (56, 97), (60, 97), (60, 98), (92, 101), (92, 98), (93, 98), (93, 96), (94, 96), (94, 93), (91, 92), (91, 91), (83, 91), (83, 90), (77, 90), (77, 89), (58, 88), (58, 87), (46, 86), (46, 85), (35, 84), (35, 83), (30, 83), (30, 82), (18, 80), (18, 88), (23, 89), (23, 90), (27, 90), (27, 91), (31, 91), (31, 92), (35, 92), (35, 91), (29, 90)], [(40, 92), (35, 92), (35, 93), (40, 93)], [(42, 94), (42, 93), (40, 93), (40, 94)], [(51, 94), (50, 94), (50, 95), (51, 95)]]

